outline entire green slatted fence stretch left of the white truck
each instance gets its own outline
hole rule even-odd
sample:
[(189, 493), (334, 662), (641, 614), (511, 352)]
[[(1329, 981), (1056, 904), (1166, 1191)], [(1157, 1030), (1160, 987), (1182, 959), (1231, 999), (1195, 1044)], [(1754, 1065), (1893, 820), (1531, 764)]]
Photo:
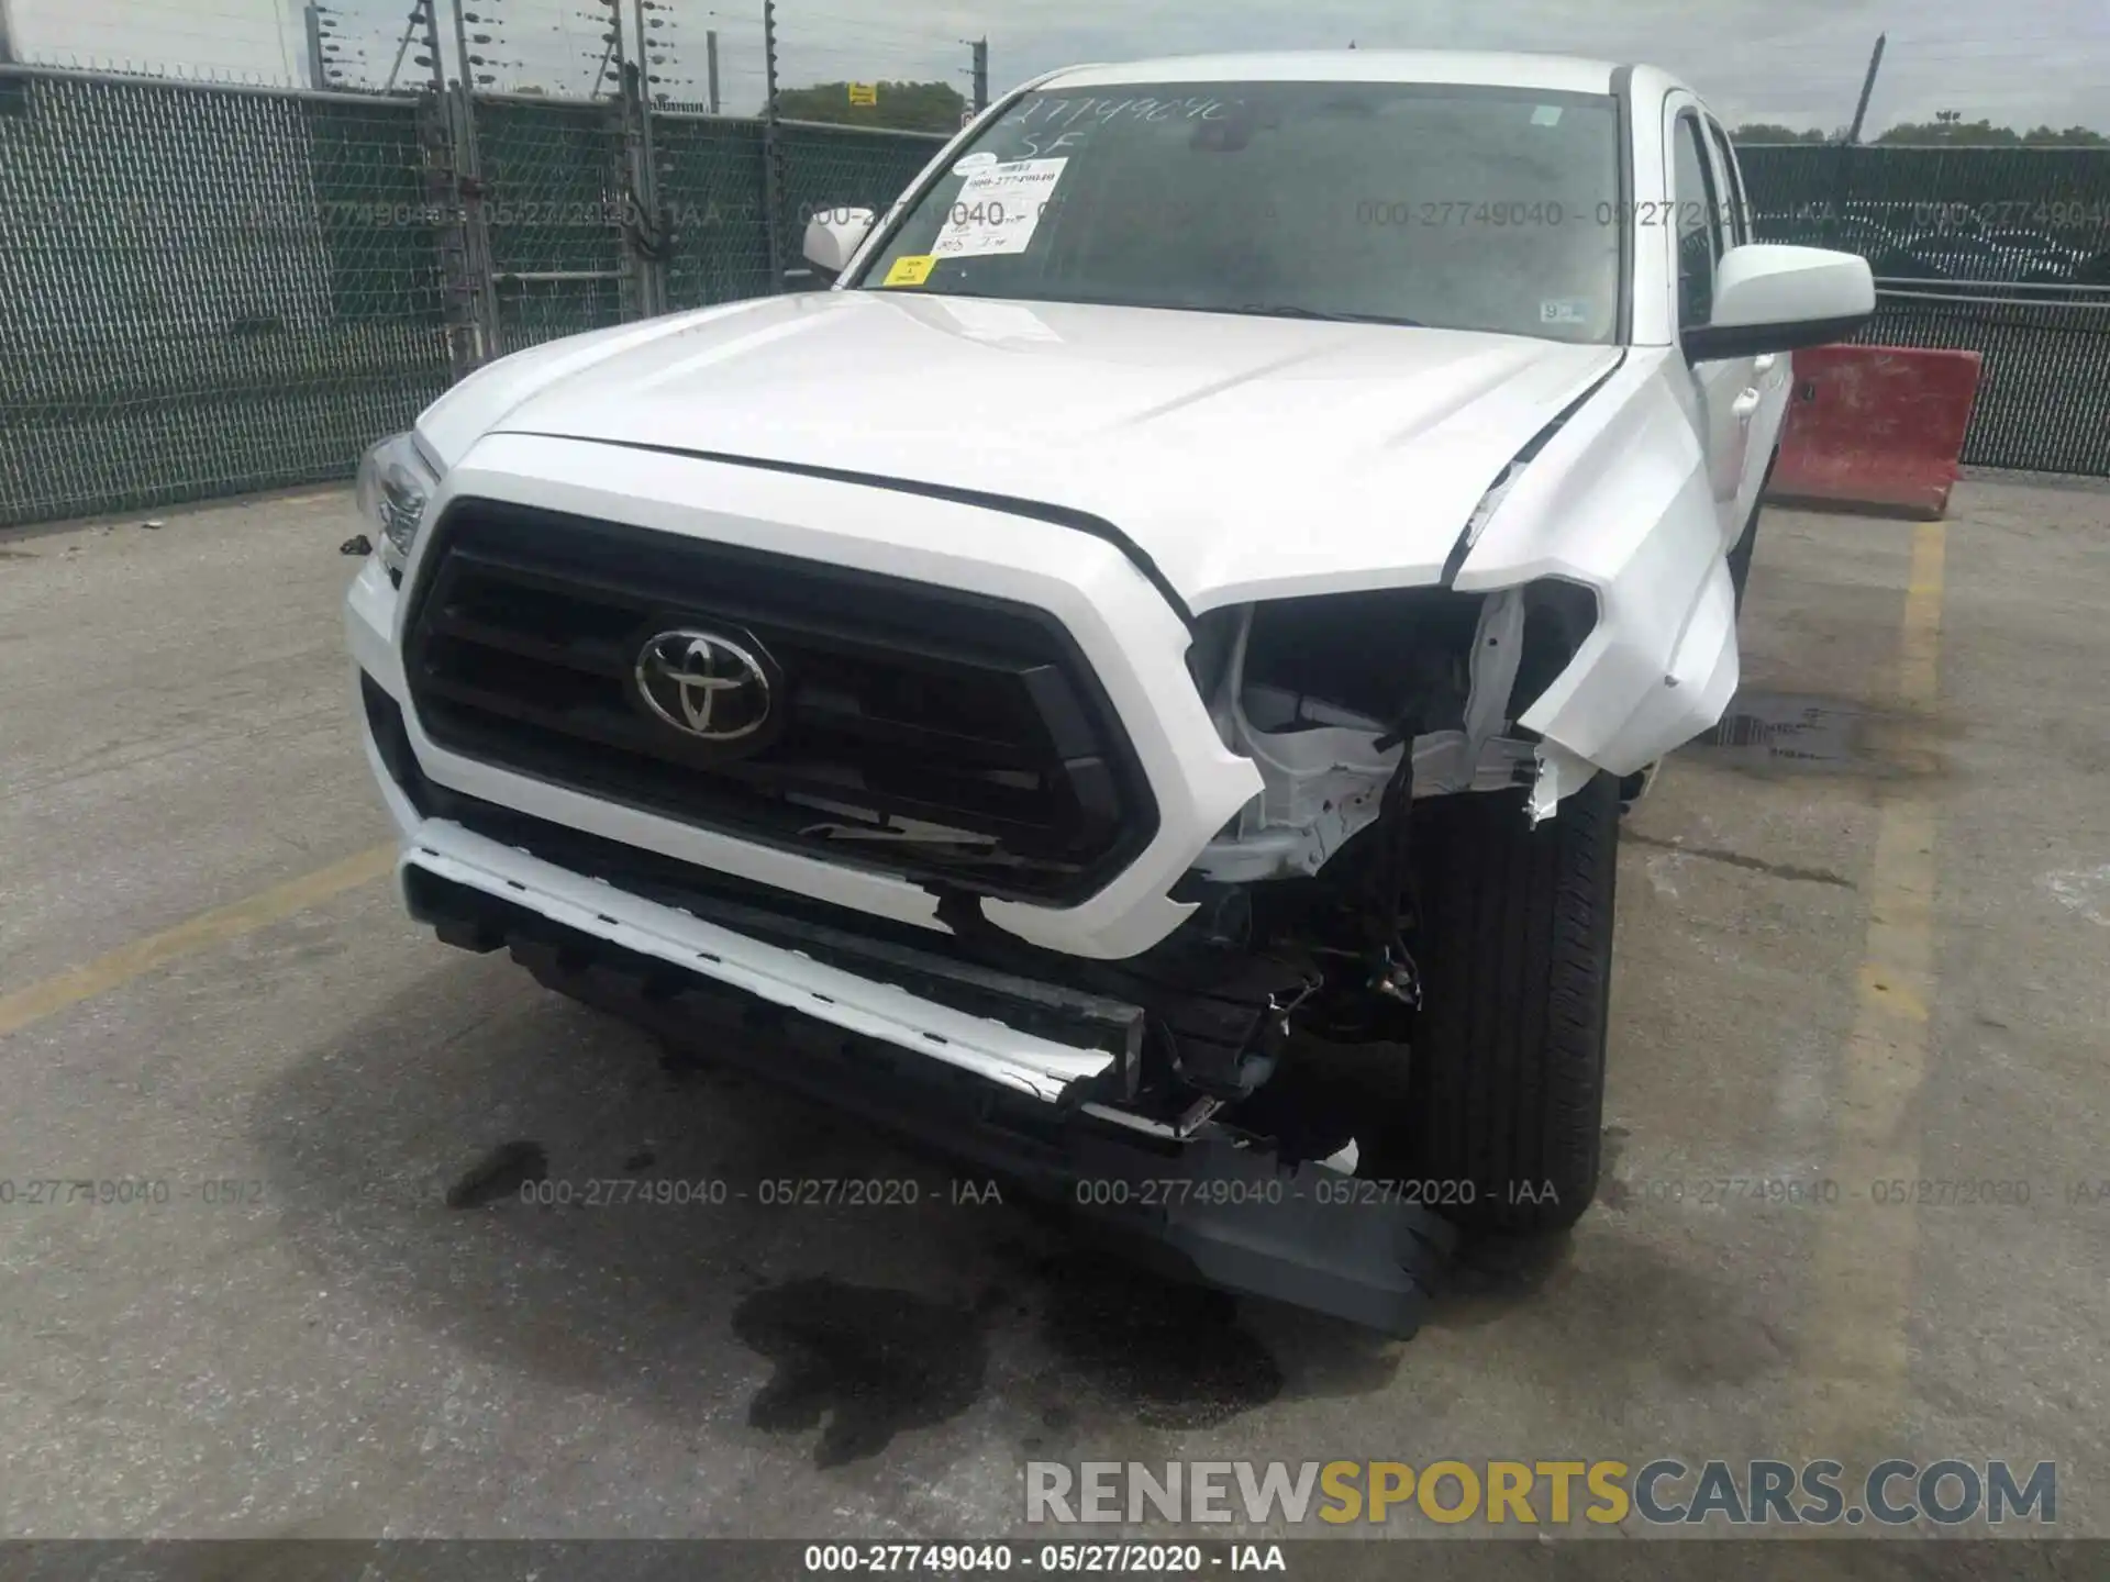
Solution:
[(766, 190), (789, 262), (941, 141), (532, 97), (471, 129), (0, 67), (0, 525), (346, 477), (485, 356), (776, 289)]

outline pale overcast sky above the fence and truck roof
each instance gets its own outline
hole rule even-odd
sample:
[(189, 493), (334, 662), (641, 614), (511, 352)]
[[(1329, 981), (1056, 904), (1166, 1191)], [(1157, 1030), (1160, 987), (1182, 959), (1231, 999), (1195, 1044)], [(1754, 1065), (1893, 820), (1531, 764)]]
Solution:
[[(441, 0), (452, 25), (454, 0)], [(462, 0), (498, 86), (584, 91), (599, 0)], [(625, 21), (635, 0), (622, 0)], [(703, 97), (720, 32), (724, 103), (762, 93), (760, 0), (658, 0), (665, 91)], [(300, 0), (0, 0), (30, 57), (179, 61), (281, 78), (300, 67)], [(331, 0), (344, 59), (386, 74), (409, 0)], [(1532, 49), (1667, 65), (1726, 120), (1831, 129), (1853, 116), (1867, 51), (1888, 51), (1869, 133), (1962, 110), (1967, 120), (2110, 131), (2110, 0), (781, 0), (783, 80), (933, 78), (968, 86), (987, 36), (992, 89), (1070, 61), (1215, 49)], [(87, 59), (82, 59), (87, 63)]]

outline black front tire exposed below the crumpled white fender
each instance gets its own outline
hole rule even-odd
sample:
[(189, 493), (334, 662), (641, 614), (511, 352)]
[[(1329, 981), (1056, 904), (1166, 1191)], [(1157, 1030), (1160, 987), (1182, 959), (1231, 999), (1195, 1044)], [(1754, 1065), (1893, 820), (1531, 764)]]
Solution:
[(1566, 1230), (1597, 1194), (1618, 783), (1599, 774), (1538, 829), (1507, 793), (1439, 797), (1424, 823), (1422, 1010), (1405, 1110), (1365, 1173), (1422, 1183), (1466, 1230)]

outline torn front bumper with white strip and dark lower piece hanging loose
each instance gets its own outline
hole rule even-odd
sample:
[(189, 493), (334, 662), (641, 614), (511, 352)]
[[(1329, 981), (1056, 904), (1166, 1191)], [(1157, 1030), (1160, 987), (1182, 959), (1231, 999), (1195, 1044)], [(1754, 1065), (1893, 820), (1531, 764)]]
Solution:
[[(814, 962), (787, 962), (783, 951), (679, 913), (656, 915), (665, 909), (654, 903), (443, 821), (405, 848), (403, 875), (411, 909), (443, 939), (506, 947), (549, 987), (675, 1046), (1070, 1204), (1173, 1274), (1412, 1335), (1454, 1247), (1452, 1228), (1426, 1209), (1325, 1164), (1283, 1166), (1272, 1150), (1213, 1120), (1137, 1126), (1110, 1105), (1049, 1103), (1047, 1084), (1085, 1069), (1080, 1050), (1034, 1044), (994, 1021), (977, 1031), (962, 1025), (975, 1019), (850, 975), (827, 979), (836, 993), (823, 996), (808, 987), (808, 975), (825, 970)], [(688, 951), (696, 937), (715, 949)], [(684, 953), (690, 960), (669, 972)], [(696, 962), (709, 977), (692, 970)], [(757, 1017), (755, 998), (800, 1015)], [(895, 1053), (827, 1036), (827, 1025), (869, 1031)], [(945, 1042), (924, 1042), (939, 1025)], [(1068, 1086), (1089, 1091), (1091, 1078), (1072, 1076)]]

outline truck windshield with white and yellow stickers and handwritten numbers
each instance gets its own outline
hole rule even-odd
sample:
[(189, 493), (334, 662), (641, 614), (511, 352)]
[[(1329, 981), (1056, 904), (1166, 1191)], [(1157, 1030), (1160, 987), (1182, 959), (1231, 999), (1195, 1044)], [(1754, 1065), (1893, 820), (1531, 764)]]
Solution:
[(1610, 342), (1616, 219), (1599, 95), (1032, 93), (922, 194), (861, 285)]

